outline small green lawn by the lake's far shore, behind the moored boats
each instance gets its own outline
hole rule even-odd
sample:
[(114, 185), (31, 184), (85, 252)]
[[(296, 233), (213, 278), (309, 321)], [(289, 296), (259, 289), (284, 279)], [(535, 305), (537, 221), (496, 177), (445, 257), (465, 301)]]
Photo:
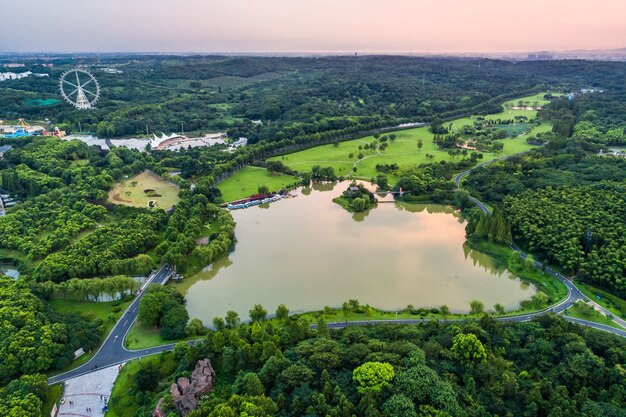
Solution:
[(270, 191), (278, 191), (298, 182), (298, 178), (280, 173), (270, 173), (265, 168), (248, 166), (227, 178), (217, 188), (222, 192), (224, 201), (233, 201), (259, 192), (259, 186), (265, 185)]

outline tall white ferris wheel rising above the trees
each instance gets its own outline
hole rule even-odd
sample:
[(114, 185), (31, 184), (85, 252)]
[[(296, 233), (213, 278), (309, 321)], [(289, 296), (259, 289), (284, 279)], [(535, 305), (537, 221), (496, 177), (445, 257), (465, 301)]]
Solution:
[(100, 98), (98, 80), (81, 68), (65, 71), (59, 78), (59, 89), (65, 101), (79, 110), (93, 108)]

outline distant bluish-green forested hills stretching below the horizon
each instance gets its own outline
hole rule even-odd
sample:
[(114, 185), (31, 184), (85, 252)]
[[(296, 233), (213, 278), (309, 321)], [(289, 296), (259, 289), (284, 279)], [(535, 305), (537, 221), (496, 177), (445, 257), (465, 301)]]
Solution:
[[(506, 62), (410, 57), (57, 57), (25, 61), (48, 78), (5, 82), (0, 117), (49, 118), (100, 137), (228, 131), (251, 142), (500, 111), (505, 98), (559, 86), (622, 86), (622, 63)], [(42, 67), (43, 63), (54, 66)], [(60, 101), (57, 79), (91, 69), (102, 86), (96, 109)], [(122, 73), (104, 72), (106, 67)], [(260, 123), (252, 123), (260, 121)], [(361, 129), (363, 130), (363, 129)]]

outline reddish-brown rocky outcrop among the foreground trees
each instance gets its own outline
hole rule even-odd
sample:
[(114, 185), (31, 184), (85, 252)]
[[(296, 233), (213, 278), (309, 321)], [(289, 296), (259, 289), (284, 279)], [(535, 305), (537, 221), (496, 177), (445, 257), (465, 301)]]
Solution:
[[(186, 416), (191, 411), (198, 407), (198, 400), (200, 397), (211, 391), (215, 386), (215, 371), (211, 366), (211, 361), (208, 359), (199, 360), (196, 363), (196, 367), (191, 373), (189, 378), (178, 378), (175, 384), (170, 387), (170, 393), (174, 400), (176, 409), (182, 416)], [(152, 414), (154, 417), (161, 417), (157, 415), (160, 412), (159, 405), (157, 404), (156, 410)]]

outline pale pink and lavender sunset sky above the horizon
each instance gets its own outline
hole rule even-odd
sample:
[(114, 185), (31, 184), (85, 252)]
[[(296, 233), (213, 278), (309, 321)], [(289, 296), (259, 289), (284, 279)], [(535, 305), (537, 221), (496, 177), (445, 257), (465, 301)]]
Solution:
[(626, 47), (624, 0), (0, 0), (4, 52)]

